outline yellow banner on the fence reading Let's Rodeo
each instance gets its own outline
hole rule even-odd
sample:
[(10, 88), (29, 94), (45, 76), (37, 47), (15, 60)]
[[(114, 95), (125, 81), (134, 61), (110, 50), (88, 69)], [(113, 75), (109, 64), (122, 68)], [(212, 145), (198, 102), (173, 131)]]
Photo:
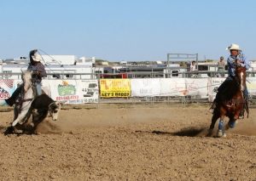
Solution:
[(130, 97), (130, 79), (101, 79), (101, 97)]

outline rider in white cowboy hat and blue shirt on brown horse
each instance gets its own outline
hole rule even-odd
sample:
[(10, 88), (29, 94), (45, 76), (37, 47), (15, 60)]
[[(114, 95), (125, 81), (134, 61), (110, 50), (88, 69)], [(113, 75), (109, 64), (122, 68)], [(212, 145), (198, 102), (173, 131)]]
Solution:
[[(230, 50), (230, 56), (227, 59), (229, 76), (218, 88), (218, 93), (216, 95), (216, 98), (213, 100), (212, 107), (210, 108), (211, 111), (213, 111), (216, 107), (216, 102), (219, 99), (219, 94), (224, 90), (227, 83), (232, 81), (233, 78), (236, 76), (236, 64), (245, 67), (247, 70), (250, 68), (250, 61), (246, 59), (244, 54), (242, 54), (241, 48), (238, 44), (232, 43), (228, 48), (226, 48), (226, 50)], [(244, 89), (243, 94), (244, 98), (248, 99), (249, 93), (247, 91), (247, 87)]]

